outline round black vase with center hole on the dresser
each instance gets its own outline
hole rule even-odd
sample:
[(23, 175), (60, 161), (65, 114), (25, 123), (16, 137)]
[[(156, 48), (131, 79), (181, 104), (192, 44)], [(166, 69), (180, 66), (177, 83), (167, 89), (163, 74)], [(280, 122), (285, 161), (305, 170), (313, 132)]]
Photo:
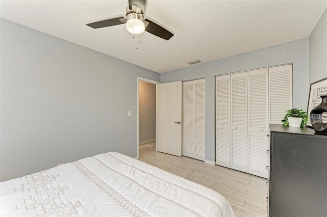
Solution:
[[(320, 134), (327, 134), (327, 95), (320, 96), (322, 102), (317, 105), (310, 113), (310, 121), (313, 129)], [(322, 113), (326, 112), (324, 115), (324, 121), (322, 122)]]

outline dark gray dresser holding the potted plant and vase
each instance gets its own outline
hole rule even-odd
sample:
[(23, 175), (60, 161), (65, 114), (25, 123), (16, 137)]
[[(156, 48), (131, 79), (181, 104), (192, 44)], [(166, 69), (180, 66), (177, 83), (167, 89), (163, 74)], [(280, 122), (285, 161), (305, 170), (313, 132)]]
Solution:
[(269, 124), (269, 216), (327, 216), (327, 135)]

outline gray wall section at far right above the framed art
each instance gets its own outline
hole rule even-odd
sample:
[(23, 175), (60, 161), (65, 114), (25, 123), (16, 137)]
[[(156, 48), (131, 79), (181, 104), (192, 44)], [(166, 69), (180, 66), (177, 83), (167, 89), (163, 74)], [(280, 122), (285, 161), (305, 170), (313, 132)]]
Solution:
[(327, 77), (327, 9), (309, 37), (310, 84)]

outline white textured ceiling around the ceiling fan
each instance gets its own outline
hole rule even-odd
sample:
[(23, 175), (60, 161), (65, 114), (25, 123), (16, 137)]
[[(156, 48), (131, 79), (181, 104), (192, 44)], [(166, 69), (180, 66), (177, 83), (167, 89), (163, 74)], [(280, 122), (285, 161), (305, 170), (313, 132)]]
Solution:
[(187, 62), (197, 59), (208, 62), (307, 38), (327, 1), (148, 0), (145, 17), (172, 32), (169, 41), (147, 32), (133, 39), (125, 24), (102, 29), (86, 25), (125, 16), (127, 5), (127, 0), (1, 1), (0, 15), (162, 73), (189, 67)]

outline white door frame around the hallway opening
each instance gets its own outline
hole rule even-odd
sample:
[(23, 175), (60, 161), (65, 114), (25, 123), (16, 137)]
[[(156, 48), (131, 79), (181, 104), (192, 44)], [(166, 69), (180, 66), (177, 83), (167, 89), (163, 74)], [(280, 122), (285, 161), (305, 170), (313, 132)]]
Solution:
[[(138, 148), (139, 148), (139, 87), (138, 87), (138, 83), (141, 81), (141, 82), (146, 82), (146, 83), (150, 83), (150, 84), (154, 84), (154, 85), (157, 85), (157, 84), (160, 84), (160, 82), (157, 82), (156, 80), (151, 80), (151, 79), (148, 79), (148, 78), (144, 78), (144, 77), (139, 77), (139, 76), (136, 76), (136, 79), (137, 79), (137, 85), (136, 85), (136, 159), (139, 158), (139, 153), (138, 153)], [(155, 89), (155, 149), (157, 150), (157, 110), (158, 110), (158, 106), (157, 106), (157, 100), (158, 100), (158, 91), (157, 91), (157, 87)]]

